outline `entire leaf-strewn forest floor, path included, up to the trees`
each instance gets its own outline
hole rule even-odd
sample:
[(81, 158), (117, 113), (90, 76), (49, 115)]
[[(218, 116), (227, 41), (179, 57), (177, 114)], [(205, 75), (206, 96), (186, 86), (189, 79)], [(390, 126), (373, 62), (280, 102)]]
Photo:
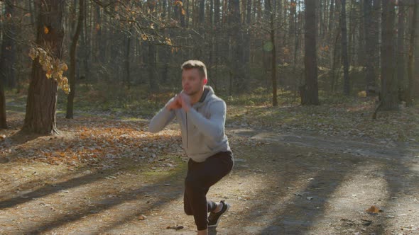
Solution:
[[(0, 234), (195, 234), (178, 125), (58, 112), (61, 134), (35, 136), (7, 108)], [(235, 166), (207, 196), (232, 208), (210, 234), (419, 234), (419, 108), (373, 109), (228, 105)]]

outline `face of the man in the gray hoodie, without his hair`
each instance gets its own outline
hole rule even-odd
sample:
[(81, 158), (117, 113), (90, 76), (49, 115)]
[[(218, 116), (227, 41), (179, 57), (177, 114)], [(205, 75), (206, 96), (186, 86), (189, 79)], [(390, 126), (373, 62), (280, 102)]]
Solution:
[(195, 94), (202, 91), (205, 85), (205, 78), (200, 75), (199, 69), (183, 69), (182, 71), (182, 88), (183, 91), (189, 95), (194, 96)]

